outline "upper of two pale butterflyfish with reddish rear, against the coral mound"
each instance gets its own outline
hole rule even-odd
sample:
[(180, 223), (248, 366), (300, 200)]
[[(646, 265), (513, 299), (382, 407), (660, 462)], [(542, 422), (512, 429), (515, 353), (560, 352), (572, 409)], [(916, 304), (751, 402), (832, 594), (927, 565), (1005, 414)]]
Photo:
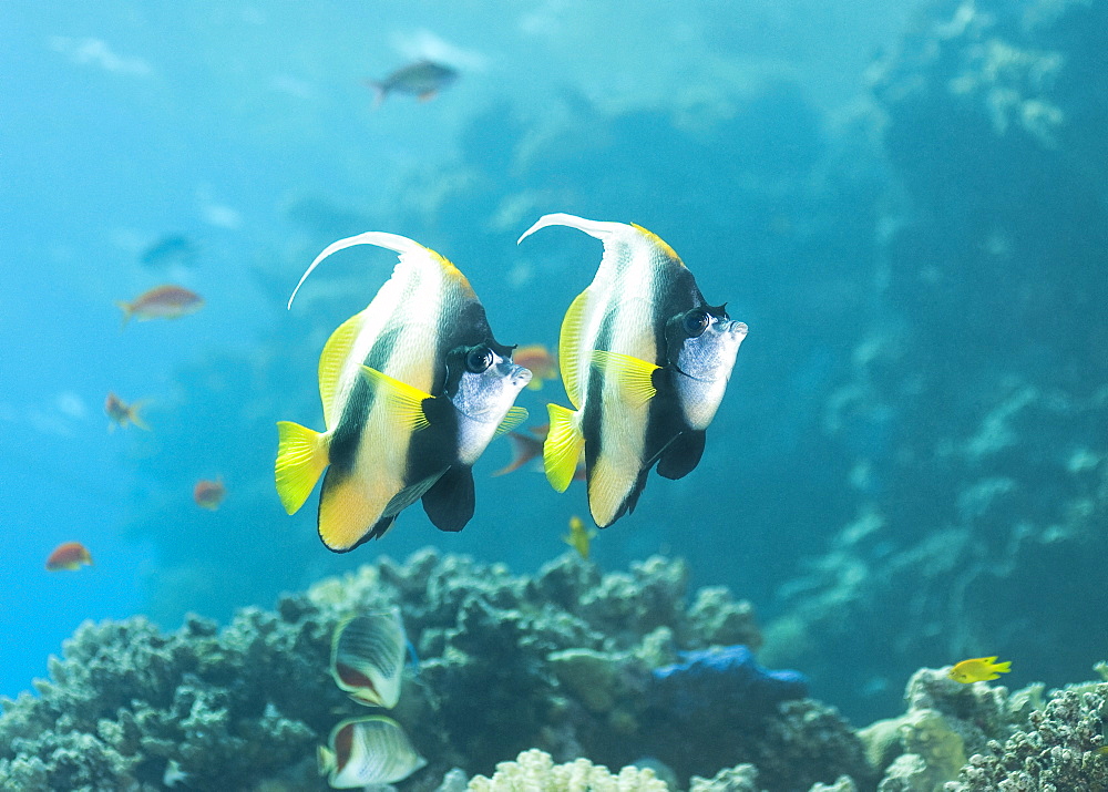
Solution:
[(331, 640), (331, 677), (355, 701), (392, 709), (400, 700), (408, 637), (400, 609), (355, 616)]

